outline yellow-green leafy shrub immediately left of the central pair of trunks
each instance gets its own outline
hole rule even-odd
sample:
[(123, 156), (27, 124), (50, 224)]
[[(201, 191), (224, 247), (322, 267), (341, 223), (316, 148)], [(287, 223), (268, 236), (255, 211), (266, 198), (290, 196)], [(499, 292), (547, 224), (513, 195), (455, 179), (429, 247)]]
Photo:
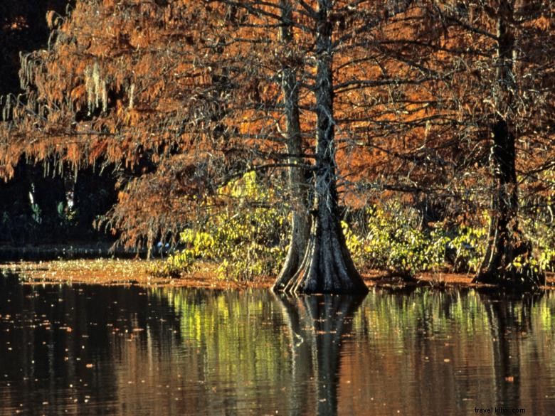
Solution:
[(208, 221), (183, 230), (180, 241), (185, 249), (157, 267), (159, 273), (181, 275), (203, 260), (220, 263), (221, 279), (245, 281), (277, 274), (287, 252), (288, 222), (275, 204), (274, 191), (252, 172), (218, 193), (231, 198), (236, 209), (214, 208)]

